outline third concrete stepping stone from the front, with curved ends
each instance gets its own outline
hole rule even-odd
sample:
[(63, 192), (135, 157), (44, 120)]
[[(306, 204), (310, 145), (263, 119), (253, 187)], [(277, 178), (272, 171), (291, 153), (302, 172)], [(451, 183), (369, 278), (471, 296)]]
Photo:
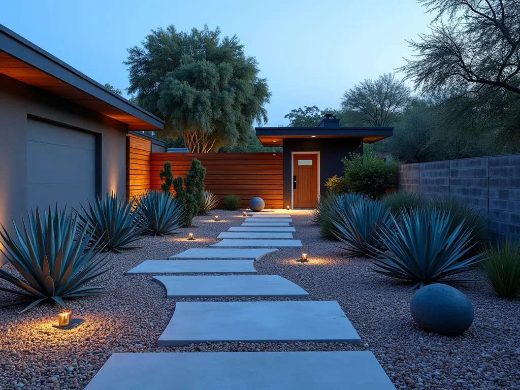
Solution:
[[(225, 260), (224, 260), (225, 261)], [(235, 262), (229, 262), (235, 263)], [(307, 291), (278, 275), (154, 276), (168, 298), (272, 297), (308, 298)]]

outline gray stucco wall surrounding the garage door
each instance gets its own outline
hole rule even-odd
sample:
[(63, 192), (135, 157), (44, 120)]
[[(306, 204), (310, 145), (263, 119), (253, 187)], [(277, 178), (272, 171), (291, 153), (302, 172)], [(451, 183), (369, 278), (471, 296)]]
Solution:
[(11, 216), (20, 223), (26, 213), (28, 115), (99, 135), (101, 192), (125, 193), (126, 124), (0, 74), (0, 222), (8, 231)]

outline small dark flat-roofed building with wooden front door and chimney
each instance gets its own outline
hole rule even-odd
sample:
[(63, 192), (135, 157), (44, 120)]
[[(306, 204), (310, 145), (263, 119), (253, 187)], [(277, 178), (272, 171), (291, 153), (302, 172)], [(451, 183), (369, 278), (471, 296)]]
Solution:
[(262, 145), (283, 147), (284, 206), (315, 207), (327, 179), (343, 175), (343, 158), (394, 134), (393, 127), (340, 127), (339, 119), (325, 116), (317, 127), (255, 128)]

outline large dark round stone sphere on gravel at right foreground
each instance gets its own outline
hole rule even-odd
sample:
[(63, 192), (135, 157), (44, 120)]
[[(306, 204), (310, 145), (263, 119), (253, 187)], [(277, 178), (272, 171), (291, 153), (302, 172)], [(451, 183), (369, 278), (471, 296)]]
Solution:
[(413, 294), (410, 313), (428, 332), (457, 335), (473, 322), (473, 306), (461, 291), (446, 284), (426, 285)]

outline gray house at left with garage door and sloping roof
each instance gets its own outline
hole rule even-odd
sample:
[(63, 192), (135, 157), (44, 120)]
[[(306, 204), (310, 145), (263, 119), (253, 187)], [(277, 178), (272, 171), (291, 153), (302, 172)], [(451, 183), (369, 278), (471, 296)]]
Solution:
[[(164, 122), (0, 25), (0, 222), (126, 191), (129, 131)], [(164, 148), (163, 148), (164, 150)]]

